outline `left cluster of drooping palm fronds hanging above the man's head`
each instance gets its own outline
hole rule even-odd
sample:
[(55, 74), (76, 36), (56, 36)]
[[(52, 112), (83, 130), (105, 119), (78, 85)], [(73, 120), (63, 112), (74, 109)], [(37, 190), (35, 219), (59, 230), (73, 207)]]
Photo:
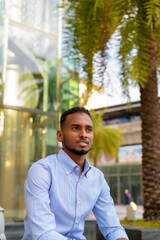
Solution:
[[(64, 55), (76, 55), (90, 91), (94, 80), (103, 85), (107, 42), (117, 21), (110, 17), (113, 0), (70, 0), (65, 12)], [(95, 55), (101, 61), (97, 62)]]

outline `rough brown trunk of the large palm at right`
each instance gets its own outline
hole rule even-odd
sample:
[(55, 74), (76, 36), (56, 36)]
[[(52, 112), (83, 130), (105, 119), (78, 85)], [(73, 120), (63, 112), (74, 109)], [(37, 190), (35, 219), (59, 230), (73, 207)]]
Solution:
[(150, 76), (141, 87), (142, 183), (145, 220), (160, 218), (160, 110), (157, 87), (157, 44), (154, 31), (149, 44)]

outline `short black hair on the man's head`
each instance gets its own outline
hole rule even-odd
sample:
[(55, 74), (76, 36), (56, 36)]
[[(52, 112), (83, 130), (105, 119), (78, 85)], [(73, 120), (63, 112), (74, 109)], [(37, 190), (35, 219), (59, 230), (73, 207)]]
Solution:
[(84, 107), (73, 107), (62, 113), (61, 119), (60, 119), (60, 125), (62, 127), (64, 121), (66, 120), (67, 116), (73, 113), (86, 113), (90, 119), (92, 120), (90, 112), (85, 109)]

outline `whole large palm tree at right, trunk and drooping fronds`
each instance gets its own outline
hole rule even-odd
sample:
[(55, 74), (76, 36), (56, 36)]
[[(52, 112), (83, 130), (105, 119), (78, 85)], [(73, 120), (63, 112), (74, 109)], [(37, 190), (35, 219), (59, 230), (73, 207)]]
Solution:
[[(66, 43), (71, 54), (80, 56), (88, 77), (89, 90), (93, 76), (106, 66), (108, 43), (117, 33), (121, 82), (128, 96), (128, 86), (138, 84), (142, 119), (142, 183), (144, 218), (160, 218), (160, 138), (159, 99), (157, 87), (160, 65), (159, 0), (68, 0), (66, 7)], [(69, 41), (67, 40), (69, 39)], [(69, 51), (69, 48), (67, 48)], [(103, 83), (101, 68), (97, 74)]]

